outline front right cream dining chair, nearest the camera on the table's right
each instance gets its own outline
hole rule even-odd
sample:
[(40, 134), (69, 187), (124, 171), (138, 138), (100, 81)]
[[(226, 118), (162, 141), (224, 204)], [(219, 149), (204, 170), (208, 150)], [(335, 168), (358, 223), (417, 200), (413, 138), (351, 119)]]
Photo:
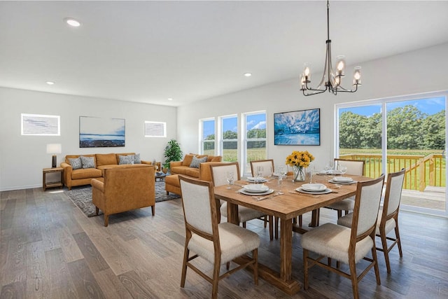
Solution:
[[(381, 174), (378, 179), (357, 183), (351, 228), (325, 223), (302, 235), (305, 290), (309, 287), (309, 268), (314, 265), (351, 279), (354, 298), (359, 298), (358, 282), (372, 267), (374, 267), (377, 284), (381, 284), (374, 241), (383, 183), (384, 174)], [(312, 258), (310, 251), (317, 253), (318, 257)], [(371, 251), (372, 258), (367, 257), (369, 251)], [(328, 257), (328, 264), (321, 261), (325, 256)], [(331, 259), (333, 258), (337, 260), (337, 266), (339, 266), (339, 261), (348, 264), (349, 272), (347, 273), (339, 267), (332, 267)], [(358, 275), (356, 264), (361, 259), (370, 263)]]

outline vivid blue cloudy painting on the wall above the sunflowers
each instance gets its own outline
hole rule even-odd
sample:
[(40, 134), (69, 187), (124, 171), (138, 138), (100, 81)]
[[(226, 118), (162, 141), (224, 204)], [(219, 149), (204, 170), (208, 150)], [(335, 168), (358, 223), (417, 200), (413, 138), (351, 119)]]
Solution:
[(321, 109), (274, 113), (274, 145), (320, 146)]

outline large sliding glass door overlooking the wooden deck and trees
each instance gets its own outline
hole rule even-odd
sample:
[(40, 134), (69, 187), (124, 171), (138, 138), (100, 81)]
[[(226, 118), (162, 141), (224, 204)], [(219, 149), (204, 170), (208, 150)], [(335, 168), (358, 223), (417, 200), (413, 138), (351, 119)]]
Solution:
[(405, 168), (400, 208), (446, 216), (447, 97), (438, 92), (337, 105), (336, 156), (364, 160), (372, 178)]

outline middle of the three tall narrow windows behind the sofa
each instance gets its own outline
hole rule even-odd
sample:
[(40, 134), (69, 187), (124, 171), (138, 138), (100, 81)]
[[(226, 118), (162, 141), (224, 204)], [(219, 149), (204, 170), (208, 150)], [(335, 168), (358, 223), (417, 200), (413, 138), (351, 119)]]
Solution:
[(238, 118), (225, 116), (221, 118), (221, 153), (223, 161), (238, 161)]

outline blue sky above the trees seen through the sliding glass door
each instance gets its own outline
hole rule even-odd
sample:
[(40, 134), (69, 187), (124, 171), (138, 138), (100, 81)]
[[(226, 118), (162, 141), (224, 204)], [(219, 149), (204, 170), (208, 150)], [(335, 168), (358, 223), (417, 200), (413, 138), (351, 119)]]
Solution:
[[(391, 102), (386, 105), (386, 108), (387, 111), (391, 111), (397, 107), (406, 105), (414, 105), (421, 112), (427, 113), (428, 115), (433, 115), (445, 109), (445, 99), (444, 97), (431, 97), (412, 101)], [(372, 116), (373, 113), (381, 112), (381, 104), (339, 109), (339, 114), (344, 111), (351, 111), (353, 113), (360, 114), (361, 116)]]

